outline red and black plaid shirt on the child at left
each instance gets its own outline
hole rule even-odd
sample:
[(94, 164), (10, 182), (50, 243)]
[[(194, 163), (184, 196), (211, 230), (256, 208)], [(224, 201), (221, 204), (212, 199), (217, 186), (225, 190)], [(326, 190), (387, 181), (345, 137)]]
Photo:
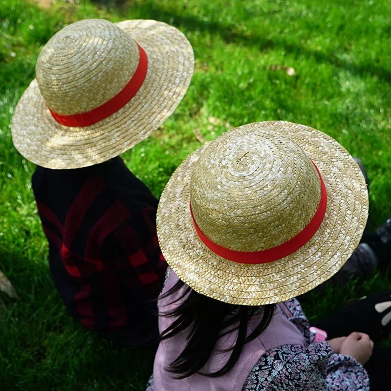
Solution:
[(75, 170), (37, 167), (33, 190), (68, 311), (90, 329), (143, 339), (157, 327), (150, 299), (167, 267), (156, 198), (119, 157)]

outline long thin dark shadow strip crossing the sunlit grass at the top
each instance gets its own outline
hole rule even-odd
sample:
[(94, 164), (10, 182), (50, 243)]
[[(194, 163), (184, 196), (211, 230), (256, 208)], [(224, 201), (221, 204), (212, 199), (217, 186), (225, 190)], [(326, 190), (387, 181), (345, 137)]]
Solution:
[[(335, 57), (332, 53), (326, 54), (316, 50), (311, 50), (299, 44), (287, 43), (283, 39), (271, 40), (254, 33), (242, 34), (235, 31), (232, 26), (223, 25), (217, 22), (201, 21), (193, 15), (178, 15), (174, 12), (168, 12), (158, 7), (156, 4), (147, 3), (129, 5), (126, 0), (95, 0), (94, 2), (98, 5), (105, 4), (106, 6), (109, 6), (111, 4), (111, 6), (116, 6), (118, 12), (123, 17), (127, 16), (127, 9), (129, 9), (129, 6), (132, 6), (133, 9), (138, 11), (144, 18), (167, 22), (177, 27), (184, 26), (188, 30), (209, 32), (220, 36), (226, 43), (239, 43), (244, 46), (257, 47), (260, 50), (281, 48), (292, 54), (302, 54), (307, 57), (311, 57), (317, 63), (328, 63), (337, 68), (347, 69), (351, 73), (359, 76), (371, 74), (373, 76), (377, 76), (380, 80), (386, 82), (391, 81), (391, 72), (381, 66), (368, 63), (364, 65), (355, 65)], [(272, 11), (271, 13), (275, 13), (275, 11)], [(265, 15), (268, 15), (268, 13), (265, 12)]]

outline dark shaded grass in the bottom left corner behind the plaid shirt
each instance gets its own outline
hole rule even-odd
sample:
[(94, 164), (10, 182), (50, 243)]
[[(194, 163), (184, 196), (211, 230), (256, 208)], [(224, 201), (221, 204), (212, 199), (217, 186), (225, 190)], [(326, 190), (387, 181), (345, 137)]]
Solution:
[(1, 390), (144, 390), (154, 351), (123, 348), (65, 311), (45, 261), (0, 248), (20, 299), (0, 296)]

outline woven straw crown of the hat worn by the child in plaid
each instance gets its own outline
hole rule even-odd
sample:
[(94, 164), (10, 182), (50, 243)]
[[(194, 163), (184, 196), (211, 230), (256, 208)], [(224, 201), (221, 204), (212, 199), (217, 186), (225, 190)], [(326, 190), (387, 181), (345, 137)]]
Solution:
[(72, 115), (95, 109), (117, 95), (139, 62), (137, 43), (106, 20), (72, 23), (43, 47), (36, 76), (47, 106)]

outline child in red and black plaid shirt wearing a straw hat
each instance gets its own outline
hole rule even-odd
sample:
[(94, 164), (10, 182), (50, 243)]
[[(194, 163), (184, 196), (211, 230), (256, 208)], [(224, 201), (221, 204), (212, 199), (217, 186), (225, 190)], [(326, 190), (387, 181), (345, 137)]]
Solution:
[(84, 20), (45, 44), (12, 122), (38, 165), (33, 190), (50, 270), (83, 326), (126, 345), (156, 341), (167, 264), (157, 200), (119, 155), (156, 130), (184, 96), (193, 49), (163, 22)]

